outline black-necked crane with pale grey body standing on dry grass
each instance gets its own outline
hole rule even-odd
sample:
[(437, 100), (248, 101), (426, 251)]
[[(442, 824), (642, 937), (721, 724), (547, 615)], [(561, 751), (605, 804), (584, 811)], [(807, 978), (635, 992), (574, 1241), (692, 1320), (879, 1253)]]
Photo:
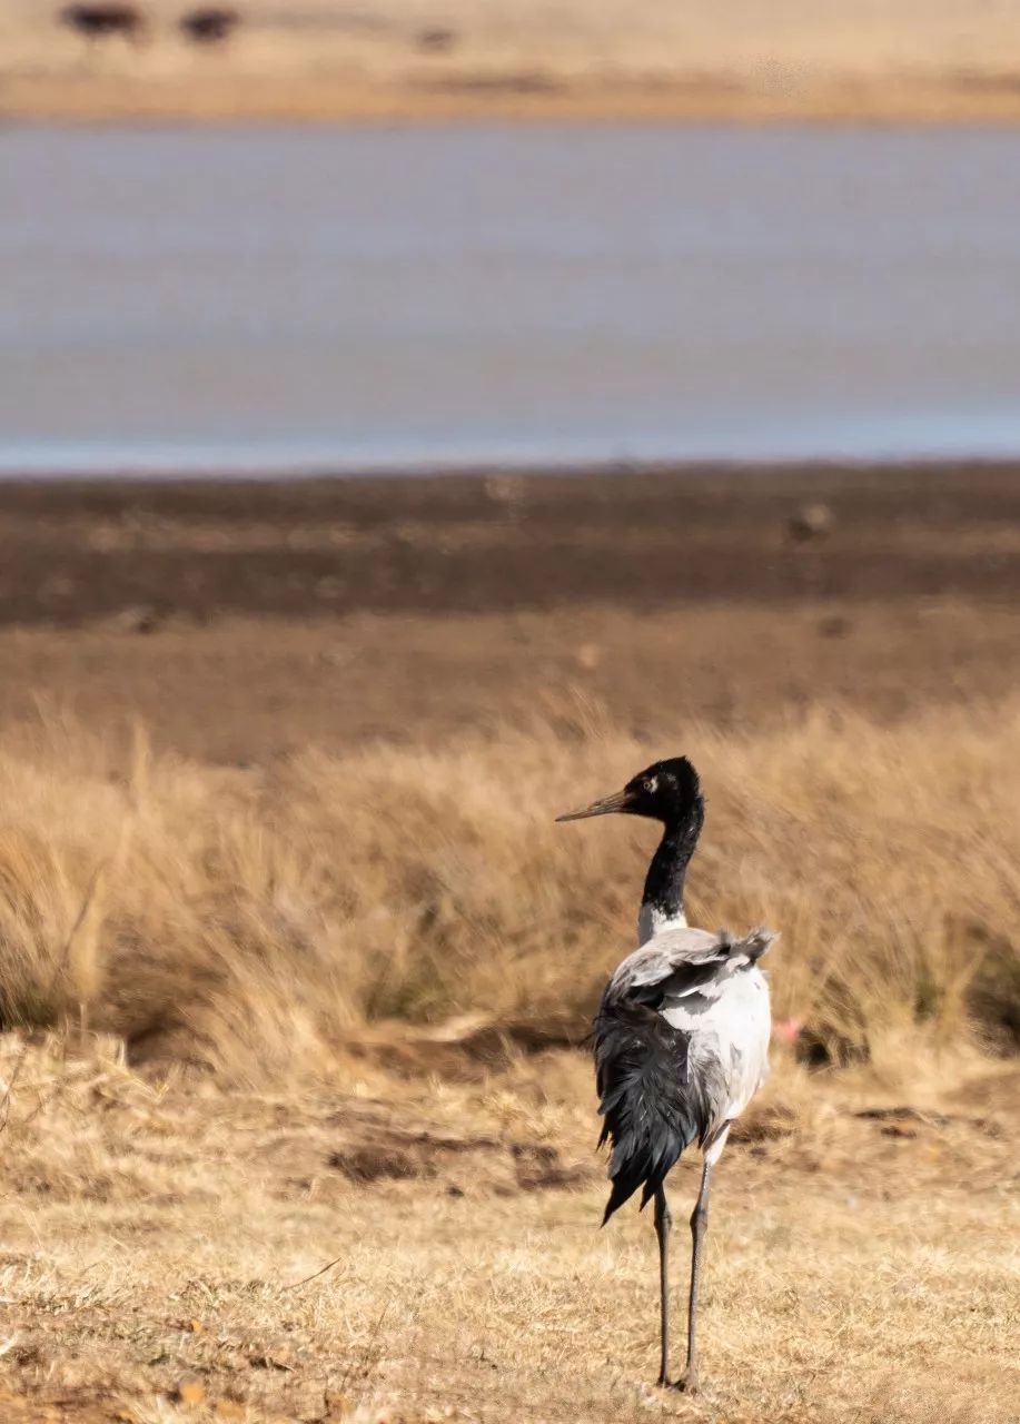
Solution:
[(613, 1145), (613, 1189), (603, 1225), (641, 1188), (655, 1199), (660, 1253), (661, 1363), (670, 1386), (670, 1205), (664, 1182), (694, 1143), (702, 1152), (701, 1189), (691, 1216), (691, 1284), (687, 1364), (678, 1388), (698, 1387), (695, 1350), (701, 1247), (708, 1223), (712, 1168), (734, 1118), (768, 1074), (769, 994), (758, 960), (774, 941), (768, 930), (735, 938), (688, 928), (687, 866), (701, 834), (705, 802), (685, 756), (655, 762), (614, 796), (558, 820), (620, 812), (662, 823), (638, 916), (640, 948), (605, 987), (594, 1024), (595, 1082), (603, 1115), (598, 1139)]

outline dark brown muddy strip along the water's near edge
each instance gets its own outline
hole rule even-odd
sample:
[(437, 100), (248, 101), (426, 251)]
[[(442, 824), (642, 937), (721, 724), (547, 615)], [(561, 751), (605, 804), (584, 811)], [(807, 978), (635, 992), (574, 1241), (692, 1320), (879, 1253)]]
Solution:
[(999, 602), (1020, 592), (1019, 530), (1020, 461), (0, 480), (0, 624)]

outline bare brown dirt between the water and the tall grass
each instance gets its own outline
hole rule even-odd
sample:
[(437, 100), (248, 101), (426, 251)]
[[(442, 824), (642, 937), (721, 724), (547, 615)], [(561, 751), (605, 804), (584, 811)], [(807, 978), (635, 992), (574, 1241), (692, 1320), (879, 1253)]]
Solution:
[[(831, 527), (798, 537), (822, 501)], [(1020, 471), (0, 484), (0, 721), (262, 762), (586, 696), (654, 736), (1016, 685)]]

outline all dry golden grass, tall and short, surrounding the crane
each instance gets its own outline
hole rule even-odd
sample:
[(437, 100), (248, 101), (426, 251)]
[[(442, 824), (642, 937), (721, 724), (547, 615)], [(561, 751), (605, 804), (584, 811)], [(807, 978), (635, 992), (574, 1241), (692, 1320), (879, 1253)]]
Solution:
[[(584, 1031), (651, 836), (551, 817), (675, 749), (692, 910), (778, 926), (776, 1014), (848, 1065), (778, 1048), (727, 1153), (697, 1401), (645, 1383), (650, 1223), (595, 1229), (588, 1064), (534, 1051)], [(254, 770), (9, 731), (0, 1417), (1016, 1420), (1019, 1084), (982, 1040), (1019, 752), (1020, 703), (664, 748), (571, 703)]]

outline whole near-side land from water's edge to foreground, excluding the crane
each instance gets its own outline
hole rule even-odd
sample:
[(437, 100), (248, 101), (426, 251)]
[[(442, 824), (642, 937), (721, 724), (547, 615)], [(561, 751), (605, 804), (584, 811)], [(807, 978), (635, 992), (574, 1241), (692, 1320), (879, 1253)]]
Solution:
[[(1020, 1420), (1019, 590), (1013, 468), (0, 487), (0, 1421)], [(677, 752), (782, 931), (697, 1397), (553, 820)]]

